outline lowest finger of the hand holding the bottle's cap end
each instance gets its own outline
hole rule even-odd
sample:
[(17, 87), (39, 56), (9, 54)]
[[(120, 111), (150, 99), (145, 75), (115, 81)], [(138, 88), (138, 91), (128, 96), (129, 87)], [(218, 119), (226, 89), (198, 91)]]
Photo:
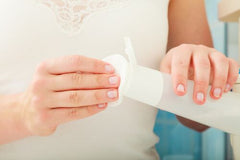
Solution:
[(92, 106), (84, 107), (74, 107), (74, 108), (56, 108), (52, 109), (51, 115), (53, 117), (52, 122), (55, 125), (70, 122), (73, 120), (83, 119), (86, 117), (93, 116), (99, 112), (104, 111), (107, 108), (107, 104), (98, 104)]

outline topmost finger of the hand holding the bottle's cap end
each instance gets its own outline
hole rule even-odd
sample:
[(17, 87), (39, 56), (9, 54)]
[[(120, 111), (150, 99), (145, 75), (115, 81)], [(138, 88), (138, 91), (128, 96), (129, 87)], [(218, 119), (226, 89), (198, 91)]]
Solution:
[(87, 73), (113, 73), (112, 65), (98, 59), (88, 58), (79, 55), (64, 56), (43, 62), (38, 70), (47, 71), (50, 74), (65, 74), (74, 72)]

